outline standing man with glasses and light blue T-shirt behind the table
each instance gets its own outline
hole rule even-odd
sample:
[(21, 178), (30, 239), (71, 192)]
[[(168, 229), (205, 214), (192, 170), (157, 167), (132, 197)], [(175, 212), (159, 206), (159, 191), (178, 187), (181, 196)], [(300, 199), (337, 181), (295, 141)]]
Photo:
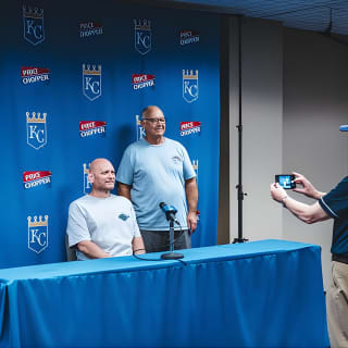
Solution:
[[(141, 112), (146, 137), (129, 145), (122, 158), (116, 181), (119, 195), (132, 200), (147, 252), (169, 250), (169, 222), (159, 204), (177, 209), (175, 249), (191, 247), (197, 226), (196, 173), (186, 149), (165, 138), (165, 119), (158, 107)], [(187, 204), (188, 209), (187, 209)]]

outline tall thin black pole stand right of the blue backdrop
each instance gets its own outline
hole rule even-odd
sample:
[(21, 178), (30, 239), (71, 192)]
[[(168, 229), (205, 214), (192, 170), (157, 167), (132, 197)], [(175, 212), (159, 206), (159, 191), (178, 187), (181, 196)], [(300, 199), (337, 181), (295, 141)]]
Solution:
[(239, 120), (236, 128), (238, 129), (238, 185), (237, 200), (238, 200), (238, 238), (233, 243), (245, 243), (248, 239), (243, 238), (243, 200), (247, 196), (243, 191), (243, 117), (241, 117), (241, 21), (243, 16), (238, 16), (238, 87), (239, 87)]

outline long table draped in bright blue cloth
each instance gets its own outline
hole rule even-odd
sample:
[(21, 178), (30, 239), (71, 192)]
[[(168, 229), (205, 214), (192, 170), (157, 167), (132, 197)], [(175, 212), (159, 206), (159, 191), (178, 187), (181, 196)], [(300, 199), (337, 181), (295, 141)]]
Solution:
[(0, 270), (0, 347), (328, 346), (320, 247), (183, 253)]

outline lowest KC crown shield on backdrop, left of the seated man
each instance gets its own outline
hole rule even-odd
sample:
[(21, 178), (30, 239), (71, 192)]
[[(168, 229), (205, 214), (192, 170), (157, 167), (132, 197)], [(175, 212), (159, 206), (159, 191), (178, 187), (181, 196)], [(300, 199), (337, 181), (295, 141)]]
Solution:
[(28, 248), (40, 253), (48, 247), (48, 215), (28, 216)]

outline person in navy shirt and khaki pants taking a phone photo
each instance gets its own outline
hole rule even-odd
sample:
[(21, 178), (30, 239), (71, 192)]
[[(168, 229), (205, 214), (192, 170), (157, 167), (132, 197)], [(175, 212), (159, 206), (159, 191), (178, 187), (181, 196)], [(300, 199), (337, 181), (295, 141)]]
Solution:
[(275, 183), (271, 185), (271, 195), (308, 224), (334, 219), (332, 284), (326, 294), (327, 324), (331, 347), (348, 347), (348, 176), (325, 194), (316, 190), (303, 175), (294, 174), (295, 183), (302, 185), (294, 191), (315, 199), (314, 204), (303, 204), (290, 198)]

